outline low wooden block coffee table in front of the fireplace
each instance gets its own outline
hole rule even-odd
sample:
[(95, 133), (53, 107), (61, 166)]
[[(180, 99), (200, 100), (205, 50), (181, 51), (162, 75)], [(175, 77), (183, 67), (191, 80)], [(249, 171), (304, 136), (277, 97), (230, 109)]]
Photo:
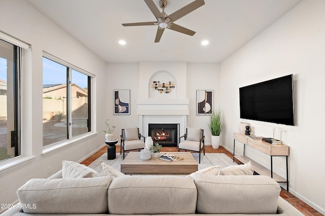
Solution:
[[(167, 152), (183, 157), (180, 161), (164, 161), (158, 158), (141, 160), (140, 152), (129, 152), (121, 163), (121, 172), (127, 175), (188, 175), (198, 171), (198, 163), (190, 152)], [(160, 155), (165, 152), (158, 153)]]

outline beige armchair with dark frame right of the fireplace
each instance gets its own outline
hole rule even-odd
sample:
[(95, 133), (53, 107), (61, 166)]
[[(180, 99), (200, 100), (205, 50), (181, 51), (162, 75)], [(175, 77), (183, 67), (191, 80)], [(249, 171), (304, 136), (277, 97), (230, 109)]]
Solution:
[[(203, 155), (205, 155), (204, 150), (204, 130), (201, 128), (186, 128), (186, 133), (179, 137), (178, 151), (189, 150), (193, 152), (199, 152), (199, 163), (201, 163), (201, 152), (203, 150)], [(184, 141), (181, 142), (181, 138)]]

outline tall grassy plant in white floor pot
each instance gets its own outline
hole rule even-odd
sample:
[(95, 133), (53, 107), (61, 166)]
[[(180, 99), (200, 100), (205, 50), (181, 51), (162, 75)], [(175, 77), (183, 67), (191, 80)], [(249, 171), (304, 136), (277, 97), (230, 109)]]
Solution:
[(208, 123), (211, 132), (211, 142), (212, 148), (218, 149), (220, 145), (220, 133), (223, 129), (223, 124), (221, 122), (221, 110), (213, 111), (210, 116), (210, 122)]

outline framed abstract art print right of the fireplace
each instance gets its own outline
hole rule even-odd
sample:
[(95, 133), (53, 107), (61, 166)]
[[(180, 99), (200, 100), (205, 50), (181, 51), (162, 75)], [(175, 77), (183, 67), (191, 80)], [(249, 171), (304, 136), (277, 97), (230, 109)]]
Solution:
[(197, 115), (212, 115), (213, 90), (197, 90)]

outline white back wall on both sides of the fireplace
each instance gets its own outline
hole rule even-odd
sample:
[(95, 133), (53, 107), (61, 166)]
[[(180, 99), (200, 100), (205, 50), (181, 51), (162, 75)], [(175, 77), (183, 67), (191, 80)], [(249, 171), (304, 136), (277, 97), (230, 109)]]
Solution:
[[(159, 63), (147, 63), (141, 62), (146, 66), (155, 65)], [(166, 64), (181, 65), (184, 68), (183, 63), (179, 62), (165, 62), (161, 63), (161, 70), (167, 70)], [(168, 67), (168, 66), (167, 66)], [(116, 126), (114, 132), (114, 138), (119, 139), (121, 129), (124, 127), (137, 127), (139, 126), (139, 118), (137, 115), (137, 98), (141, 98), (141, 95), (148, 95), (148, 86), (146, 83), (139, 86), (140, 82), (140, 67), (138, 63), (107, 63), (107, 73), (109, 74), (109, 85), (107, 85), (107, 116)], [(152, 73), (154, 73), (154, 70)], [(127, 76), (126, 76), (127, 75)], [(149, 74), (148, 76), (151, 76)], [(183, 83), (186, 83), (185, 90), (182, 90), (180, 97), (189, 98), (189, 115), (187, 116), (188, 127), (201, 127), (204, 129), (206, 135), (205, 141), (207, 145), (211, 145), (211, 133), (208, 128), (209, 116), (197, 116), (196, 115), (196, 100), (197, 90), (213, 90), (213, 103), (214, 107), (220, 106), (220, 64), (219, 63), (186, 63), (186, 74), (181, 76), (186, 79)], [(144, 78), (142, 78), (144, 79)], [(149, 78), (146, 79), (149, 82)], [(177, 80), (178, 83), (182, 82)], [(145, 87), (143, 87), (145, 86)], [(139, 90), (141, 88), (145, 88)], [(131, 90), (131, 114), (117, 116), (113, 115), (113, 90), (114, 89), (130, 89)], [(183, 88), (182, 88), (183, 89)], [(140, 94), (140, 91), (144, 92)], [(167, 95), (168, 96), (168, 95)], [(104, 122), (103, 122), (104, 125)]]

